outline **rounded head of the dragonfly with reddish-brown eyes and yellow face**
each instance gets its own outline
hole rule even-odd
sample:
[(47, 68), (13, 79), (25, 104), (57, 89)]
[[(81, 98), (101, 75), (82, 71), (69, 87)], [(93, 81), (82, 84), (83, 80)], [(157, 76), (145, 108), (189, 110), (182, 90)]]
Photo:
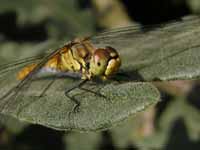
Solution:
[(103, 79), (115, 74), (121, 65), (118, 52), (112, 47), (96, 49), (90, 60), (89, 72)]

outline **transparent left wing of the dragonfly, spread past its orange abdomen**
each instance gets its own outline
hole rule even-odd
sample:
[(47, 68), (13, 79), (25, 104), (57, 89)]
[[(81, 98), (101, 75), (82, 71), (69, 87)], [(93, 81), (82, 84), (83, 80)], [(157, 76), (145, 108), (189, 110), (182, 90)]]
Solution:
[[(44, 56), (30, 57), (27, 59), (19, 60), (10, 64), (0, 66), (0, 108), (1, 111), (6, 107), (16, 107), (17, 101), (23, 99), (25, 96), (31, 96), (33, 94), (33, 80), (37, 77), (40, 69), (52, 57), (57, 50), (53, 53)], [(23, 80), (17, 79), (17, 73), (25, 67), (27, 64), (36, 63), (37, 67)], [(40, 89), (45, 87), (40, 82)], [(46, 83), (48, 85), (48, 83)], [(32, 92), (30, 92), (32, 91)]]

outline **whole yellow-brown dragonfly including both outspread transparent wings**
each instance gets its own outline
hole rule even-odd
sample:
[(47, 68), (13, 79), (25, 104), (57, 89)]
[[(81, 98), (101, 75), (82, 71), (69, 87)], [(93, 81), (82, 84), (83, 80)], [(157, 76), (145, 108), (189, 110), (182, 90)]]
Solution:
[[(21, 99), (34, 96), (35, 89), (40, 92), (38, 97), (51, 94), (48, 91), (52, 87), (59, 90), (61, 84), (65, 86), (63, 80), (58, 80), (60, 77), (69, 78), (72, 74), (80, 78), (78, 84), (63, 91), (64, 95), (68, 96), (69, 92), (75, 88), (81, 89), (84, 84), (94, 78), (109, 80), (117, 75), (121, 68), (125, 71), (130, 70), (130, 65), (127, 65), (128, 60), (135, 60), (134, 69), (148, 67), (149, 62), (154, 63), (162, 58), (151, 60), (153, 55), (151, 50), (149, 58), (143, 59), (143, 53), (148, 53), (150, 48), (155, 48), (154, 51), (156, 51), (156, 48), (160, 48), (162, 44), (167, 46), (176, 44), (182, 39), (172, 42), (171, 36), (179, 34), (182, 30), (193, 30), (199, 23), (199, 19), (186, 19), (153, 26), (132, 25), (110, 29), (91, 37), (76, 38), (45, 55), (2, 65), (0, 66), (0, 85), (5, 86), (1, 86), (0, 89), (0, 109), (3, 111), (7, 107), (15, 107)], [(191, 24), (196, 26), (191, 26)], [(55, 74), (55, 76), (40, 78), (42, 74)], [(130, 74), (130, 76), (133, 75)], [(95, 92), (92, 93), (95, 94)], [(78, 108), (80, 102), (76, 99), (72, 100), (75, 102), (75, 108)]]

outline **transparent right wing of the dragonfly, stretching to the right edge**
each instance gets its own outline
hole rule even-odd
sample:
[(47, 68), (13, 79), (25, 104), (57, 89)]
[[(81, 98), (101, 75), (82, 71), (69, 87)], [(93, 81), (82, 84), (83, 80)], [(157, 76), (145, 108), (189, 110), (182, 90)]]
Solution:
[[(105, 31), (94, 36), (92, 41), (98, 47), (112, 46), (117, 49), (122, 57), (122, 69), (138, 70), (199, 47), (199, 39), (200, 18), (187, 17), (155, 26), (129, 26)], [(134, 62), (130, 64), (130, 60)]]

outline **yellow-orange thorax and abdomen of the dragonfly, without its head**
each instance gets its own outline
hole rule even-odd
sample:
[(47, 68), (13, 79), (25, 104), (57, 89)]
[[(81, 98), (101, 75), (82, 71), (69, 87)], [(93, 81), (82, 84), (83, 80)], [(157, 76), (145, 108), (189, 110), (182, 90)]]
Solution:
[[(86, 63), (90, 56), (91, 52), (83, 44), (65, 45), (40, 68), (40, 72), (78, 72), (82, 73), (83, 78), (87, 78)], [(17, 79), (24, 79), (37, 65), (35, 63), (25, 66), (18, 72)]]

